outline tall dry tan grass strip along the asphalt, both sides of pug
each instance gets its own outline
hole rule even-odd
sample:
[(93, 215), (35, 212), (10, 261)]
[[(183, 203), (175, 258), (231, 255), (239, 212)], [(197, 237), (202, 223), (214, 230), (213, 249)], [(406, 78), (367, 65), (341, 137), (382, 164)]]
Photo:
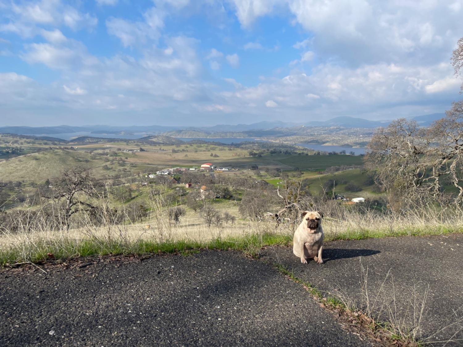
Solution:
[[(330, 206), (326, 205), (325, 210)], [(236, 215), (236, 211), (232, 211)], [(360, 212), (344, 210), (339, 204), (333, 204), (326, 212), (324, 220), (325, 240), (365, 239), (400, 235), (437, 235), (463, 230), (463, 213), (460, 210), (409, 212), (401, 214), (378, 214), (375, 211)], [(333, 216), (333, 217), (332, 217)], [(74, 216), (80, 219), (78, 228), (52, 229), (46, 224), (21, 225), (15, 232), (0, 231), (0, 263), (21, 260), (43, 260), (47, 253), (55, 256), (71, 257), (91, 254), (144, 253), (149, 248), (159, 248), (163, 244), (182, 243), (187, 248), (200, 248), (217, 240), (232, 241), (246, 248), (246, 242), (253, 238), (254, 247), (263, 247), (266, 237), (274, 242), (276, 237), (283, 243), (289, 243), (294, 233), (292, 223), (277, 225), (271, 220), (250, 221), (237, 219), (234, 224), (207, 227), (198, 213), (188, 212), (175, 224), (169, 220), (161, 202), (153, 202), (150, 216), (144, 223), (125, 223), (94, 226), (85, 222), (86, 216)], [(106, 219), (104, 219), (106, 220)], [(268, 237), (271, 235), (271, 237)], [(262, 242), (257, 242), (260, 239)], [(239, 241), (241, 240), (241, 241)], [(246, 241), (248, 240), (248, 241)], [(149, 247), (147, 246), (149, 245)], [(251, 248), (252, 248), (251, 247)], [(56, 253), (56, 254), (55, 254)]]

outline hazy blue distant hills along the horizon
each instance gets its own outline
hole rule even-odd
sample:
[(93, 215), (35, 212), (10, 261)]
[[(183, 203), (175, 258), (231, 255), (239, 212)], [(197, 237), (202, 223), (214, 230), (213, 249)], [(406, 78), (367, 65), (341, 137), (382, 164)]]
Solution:
[[(417, 116), (409, 119), (416, 120), (419, 125), (428, 126), (433, 121), (444, 117), (444, 113), (432, 113), (422, 116)], [(297, 126), (310, 127), (342, 127), (342, 128), (376, 128), (386, 126), (390, 120), (372, 121), (363, 118), (354, 118), (341, 116), (332, 118), (326, 121), (310, 121), (301, 123), (282, 122), (282, 121), (263, 121), (253, 124), (218, 124), (210, 127), (181, 127), (181, 126), (111, 126), (111, 125), (84, 125), (84, 126), (44, 126), (44, 127), (29, 127), (29, 126), (5, 126), (0, 127), (0, 133), (18, 134), (18, 135), (57, 135), (57, 134), (72, 134), (79, 132), (88, 132), (91, 134), (142, 134), (143, 136), (164, 134), (168, 136), (179, 137), (213, 137), (216, 134), (218, 137), (248, 137), (248, 136), (275, 136), (279, 129), (294, 128)], [(267, 130), (265, 134), (261, 131), (252, 130)], [(144, 134), (144, 135), (143, 135)], [(95, 136), (97, 137), (97, 136)], [(117, 136), (116, 136), (117, 137)]]

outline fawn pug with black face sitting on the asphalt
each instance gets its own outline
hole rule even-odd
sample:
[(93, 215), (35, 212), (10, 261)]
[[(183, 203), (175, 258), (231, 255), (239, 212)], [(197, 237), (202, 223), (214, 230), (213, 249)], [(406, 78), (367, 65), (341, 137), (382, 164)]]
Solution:
[(321, 253), (323, 251), (323, 228), (320, 211), (302, 212), (302, 222), (294, 232), (293, 253), (300, 258), (302, 264), (313, 258), (317, 263), (323, 264)]

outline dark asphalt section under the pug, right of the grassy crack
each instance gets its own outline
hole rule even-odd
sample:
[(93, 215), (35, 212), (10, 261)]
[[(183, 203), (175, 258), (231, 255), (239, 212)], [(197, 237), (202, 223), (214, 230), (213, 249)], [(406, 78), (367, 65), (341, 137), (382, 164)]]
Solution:
[(415, 327), (428, 342), (463, 345), (463, 234), (328, 242), (322, 265), (301, 264), (292, 248), (265, 254), (325, 295)]

